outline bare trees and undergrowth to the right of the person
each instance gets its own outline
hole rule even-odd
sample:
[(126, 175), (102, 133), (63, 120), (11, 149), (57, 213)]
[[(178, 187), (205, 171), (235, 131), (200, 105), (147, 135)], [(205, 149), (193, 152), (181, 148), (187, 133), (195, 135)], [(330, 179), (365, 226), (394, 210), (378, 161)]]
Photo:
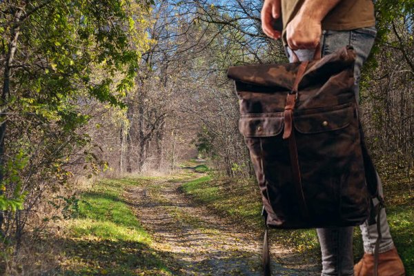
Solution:
[(362, 79), (364, 126), (382, 175), (412, 184), (414, 3), (379, 0), (375, 6), (377, 43)]

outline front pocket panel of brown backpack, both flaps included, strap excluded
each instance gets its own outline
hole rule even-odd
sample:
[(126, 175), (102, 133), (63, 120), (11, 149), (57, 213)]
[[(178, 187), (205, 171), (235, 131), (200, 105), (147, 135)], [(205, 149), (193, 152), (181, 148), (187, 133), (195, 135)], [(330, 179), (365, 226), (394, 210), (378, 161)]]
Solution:
[(368, 210), (361, 204), (367, 193), (355, 106), (297, 110), (293, 126), (308, 217), (301, 215), (297, 204), (290, 147), (282, 137), (283, 112), (248, 113), (239, 120), (268, 224), (298, 228), (304, 221), (315, 227), (361, 222)]

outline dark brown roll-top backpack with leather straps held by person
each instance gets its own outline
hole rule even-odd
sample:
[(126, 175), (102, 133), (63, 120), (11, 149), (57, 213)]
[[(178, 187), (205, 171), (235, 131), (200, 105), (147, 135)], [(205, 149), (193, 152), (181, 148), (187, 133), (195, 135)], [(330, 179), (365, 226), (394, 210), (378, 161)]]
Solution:
[(313, 61), (228, 70), (239, 98), (239, 130), (262, 194), (265, 275), (268, 227), (375, 224), (383, 206), (374, 210), (371, 200), (381, 198), (359, 123), (354, 63), (355, 52), (346, 46)]

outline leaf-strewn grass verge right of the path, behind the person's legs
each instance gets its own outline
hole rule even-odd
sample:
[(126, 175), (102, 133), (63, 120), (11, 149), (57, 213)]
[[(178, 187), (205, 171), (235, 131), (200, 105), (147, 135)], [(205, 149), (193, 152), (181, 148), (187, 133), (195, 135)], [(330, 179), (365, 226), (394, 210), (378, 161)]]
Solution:
[[(182, 186), (182, 190), (219, 213), (261, 230), (262, 204), (256, 186), (254, 181), (237, 183), (206, 176), (187, 182)], [(401, 193), (398, 199), (400, 199), (398, 204), (393, 198), (388, 200), (388, 223), (391, 226), (395, 245), (406, 266), (407, 275), (414, 275), (414, 210), (412, 204), (409, 204), (412, 199)], [(401, 202), (401, 199), (404, 200)], [(319, 243), (314, 229), (274, 231), (274, 236), (277, 236), (278, 241), (284, 241), (284, 245), (295, 248), (298, 253), (303, 253), (303, 256), (320, 259)], [(362, 238), (358, 227), (355, 227), (354, 241), (354, 255), (357, 262), (363, 254)]]

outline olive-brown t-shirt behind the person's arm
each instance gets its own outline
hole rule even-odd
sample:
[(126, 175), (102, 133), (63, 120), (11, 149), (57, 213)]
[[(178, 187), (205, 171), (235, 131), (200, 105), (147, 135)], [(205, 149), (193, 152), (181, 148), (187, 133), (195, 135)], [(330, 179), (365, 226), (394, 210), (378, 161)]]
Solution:
[[(284, 32), (288, 23), (295, 17), (305, 0), (282, 0)], [(311, 0), (308, 0), (311, 1)], [(353, 30), (375, 25), (372, 0), (342, 0), (337, 3), (324, 20), (323, 30)]]

